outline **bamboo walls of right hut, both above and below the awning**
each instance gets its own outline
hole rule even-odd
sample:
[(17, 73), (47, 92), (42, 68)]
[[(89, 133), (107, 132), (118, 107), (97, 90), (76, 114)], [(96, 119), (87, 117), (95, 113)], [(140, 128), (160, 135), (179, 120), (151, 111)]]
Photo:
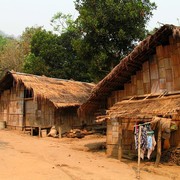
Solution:
[[(108, 108), (123, 98), (138, 95), (161, 94), (164, 91), (180, 91), (180, 40), (169, 37), (169, 45), (157, 46), (156, 54), (147, 58), (140, 71), (124, 84), (124, 90), (114, 91), (107, 100)], [(180, 115), (174, 115), (179, 129), (171, 133), (171, 146), (180, 142)], [(142, 119), (150, 121), (149, 119)], [(118, 157), (120, 134), (124, 154), (135, 153), (133, 126), (138, 119), (114, 119), (107, 121), (107, 155)]]

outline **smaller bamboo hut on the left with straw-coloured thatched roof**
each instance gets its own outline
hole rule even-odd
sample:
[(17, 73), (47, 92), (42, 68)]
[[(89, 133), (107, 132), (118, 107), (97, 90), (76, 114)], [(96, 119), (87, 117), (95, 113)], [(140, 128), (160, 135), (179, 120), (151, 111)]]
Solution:
[(81, 125), (77, 109), (93, 87), (91, 83), (8, 71), (0, 80), (0, 120), (10, 129), (56, 126), (64, 133)]

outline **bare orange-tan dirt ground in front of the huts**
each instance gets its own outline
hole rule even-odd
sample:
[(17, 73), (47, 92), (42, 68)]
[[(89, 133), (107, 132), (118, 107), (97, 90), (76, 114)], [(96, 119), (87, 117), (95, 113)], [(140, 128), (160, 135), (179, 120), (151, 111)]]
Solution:
[[(105, 136), (83, 139), (39, 138), (0, 130), (0, 179), (2, 180), (135, 180), (137, 163), (108, 158), (99, 150)], [(180, 167), (141, 163), (140, 179), (180, 179)]]

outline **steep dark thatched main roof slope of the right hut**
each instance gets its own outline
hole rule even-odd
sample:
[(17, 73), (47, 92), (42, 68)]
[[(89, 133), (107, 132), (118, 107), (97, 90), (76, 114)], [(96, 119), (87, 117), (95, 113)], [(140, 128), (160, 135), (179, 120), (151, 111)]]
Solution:
[(80, 108), (80, 113), (95, 111), (112, 91), (121, 90), (131, 76), (142, 68), (150, 55), (156, 53), (156, 46), (169, 44), (169, 36), (180, 37), (180, 27), (164, 25), (148, 36), (93, 89), (88, 101)]

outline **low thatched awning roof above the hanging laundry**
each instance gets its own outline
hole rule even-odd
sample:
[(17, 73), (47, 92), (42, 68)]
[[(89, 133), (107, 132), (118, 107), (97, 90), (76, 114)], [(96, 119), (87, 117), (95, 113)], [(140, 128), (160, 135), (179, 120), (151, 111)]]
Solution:
[(109, 117), (138, 118), (173, 115), (180, 111), (180, 95), (146, 100), (121, 101), (111, 107)]

